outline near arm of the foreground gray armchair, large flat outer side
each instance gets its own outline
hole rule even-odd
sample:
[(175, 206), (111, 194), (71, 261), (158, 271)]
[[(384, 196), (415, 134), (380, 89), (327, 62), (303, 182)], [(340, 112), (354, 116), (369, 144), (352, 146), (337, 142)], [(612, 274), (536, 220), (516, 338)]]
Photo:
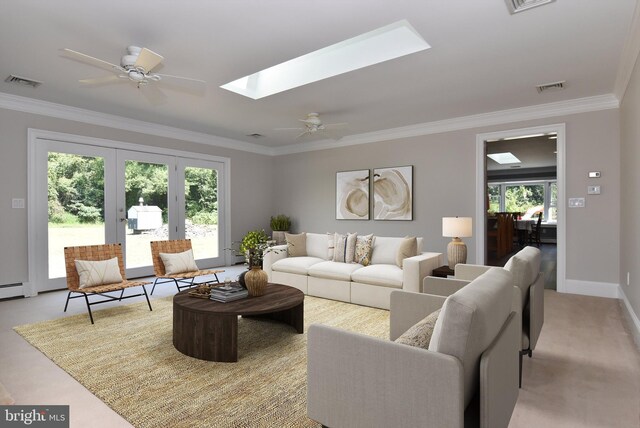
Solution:
[(457, 358), (317, 324), (307, 340), (309, 418), (328, 427), (464, 426)]

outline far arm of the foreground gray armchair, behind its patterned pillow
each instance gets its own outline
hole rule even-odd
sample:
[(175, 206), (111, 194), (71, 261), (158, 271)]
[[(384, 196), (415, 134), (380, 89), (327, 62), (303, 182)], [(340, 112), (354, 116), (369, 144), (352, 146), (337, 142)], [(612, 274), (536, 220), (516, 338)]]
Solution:
[(394, 290), (390, 297), (389, 338), (396, 340), (409, 327), (442, 307), (445, 297)]

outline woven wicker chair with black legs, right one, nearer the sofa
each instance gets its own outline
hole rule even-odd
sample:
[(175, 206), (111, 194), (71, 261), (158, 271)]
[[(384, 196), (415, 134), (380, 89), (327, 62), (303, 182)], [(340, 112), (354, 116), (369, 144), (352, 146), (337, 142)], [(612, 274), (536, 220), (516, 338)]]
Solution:
[[(191, 239), (173, 239), (169, 241), (151, 241), (151, 257), (153, 259), (153, 272), (156, 279), (153, 281), (153, 288), (151, 294), (156, 289), (156, 284), (164, 284), (167, 282), (173, 282), (178, 288), (178, 292), (183, 288), (192, 287), (194, 280), (198, 276), (213, 275), (216, 278), (216, 282), (220, 282), (218, 274), (224, 272), (224, 270), (196, 270), (193, 272), (182, 272), (175, 275), (167, 275), (164, 268), (164, 263), (160, 257), (160, 253), (182, 253), (187, 250), (191, 250)], [(180, 283), (185, 285), (180, 285)]]

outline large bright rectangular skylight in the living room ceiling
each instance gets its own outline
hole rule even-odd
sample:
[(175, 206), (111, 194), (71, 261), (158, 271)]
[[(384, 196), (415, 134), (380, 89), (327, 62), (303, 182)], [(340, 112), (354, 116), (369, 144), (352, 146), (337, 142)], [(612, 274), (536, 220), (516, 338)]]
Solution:
[(220, 87), (257, 100), (430, 47), (403, 19)]

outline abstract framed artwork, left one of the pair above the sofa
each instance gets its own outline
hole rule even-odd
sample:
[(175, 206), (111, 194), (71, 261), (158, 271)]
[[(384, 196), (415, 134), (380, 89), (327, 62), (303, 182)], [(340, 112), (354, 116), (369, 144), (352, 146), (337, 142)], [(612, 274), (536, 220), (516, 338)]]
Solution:
[(336, 220), (369, 220), (369, 170), (336, 173)]

